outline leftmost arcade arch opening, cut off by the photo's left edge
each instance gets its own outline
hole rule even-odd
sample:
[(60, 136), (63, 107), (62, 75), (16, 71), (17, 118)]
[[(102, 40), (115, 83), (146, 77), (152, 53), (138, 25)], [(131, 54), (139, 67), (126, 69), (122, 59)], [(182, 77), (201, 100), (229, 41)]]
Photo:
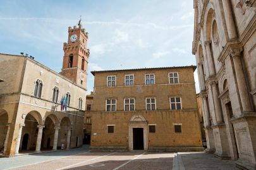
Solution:
[(0, 110), (0, 152), (4, 151), (4, 145), (8, 142), (8, 113)]

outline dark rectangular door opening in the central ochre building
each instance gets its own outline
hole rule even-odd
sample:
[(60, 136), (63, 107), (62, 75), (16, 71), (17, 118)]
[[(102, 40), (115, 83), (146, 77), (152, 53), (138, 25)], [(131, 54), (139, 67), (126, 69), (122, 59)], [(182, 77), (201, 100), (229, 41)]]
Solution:
[(133, 150), (143, 150), (143, 128), (133, 128)]

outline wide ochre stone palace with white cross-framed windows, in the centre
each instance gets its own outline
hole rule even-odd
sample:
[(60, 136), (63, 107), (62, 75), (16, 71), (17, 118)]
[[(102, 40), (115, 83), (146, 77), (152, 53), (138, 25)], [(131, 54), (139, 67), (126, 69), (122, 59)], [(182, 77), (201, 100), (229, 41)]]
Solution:
[(90, 150), (203, 150), (195, 69), (92, 71)]

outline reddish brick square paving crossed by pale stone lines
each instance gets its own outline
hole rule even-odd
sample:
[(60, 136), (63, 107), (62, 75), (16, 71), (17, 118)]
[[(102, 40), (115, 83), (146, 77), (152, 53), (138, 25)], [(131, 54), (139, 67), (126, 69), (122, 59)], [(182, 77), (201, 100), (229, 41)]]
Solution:
[[(87, 149), (88, 150), (88, 149)], [(173, 153), (71, 149), (0, 159), (0, 169), (171, 169)]]

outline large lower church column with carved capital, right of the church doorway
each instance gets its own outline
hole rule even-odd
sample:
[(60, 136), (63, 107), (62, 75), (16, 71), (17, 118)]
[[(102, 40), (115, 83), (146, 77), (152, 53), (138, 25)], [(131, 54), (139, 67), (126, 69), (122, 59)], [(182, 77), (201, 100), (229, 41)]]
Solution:
[(247, 83), (245, 80), (245, 74), (243, 73), (243, 65), (241, 64), (241, 48), (233, 48), (230, 50), (230, 55), (233, 57), (236, 81), (238, 84), (238, 90), (240, 94), (240, 101), (244, 112), (253, 111), (250, 103), (250, 97), (247, 89)]

